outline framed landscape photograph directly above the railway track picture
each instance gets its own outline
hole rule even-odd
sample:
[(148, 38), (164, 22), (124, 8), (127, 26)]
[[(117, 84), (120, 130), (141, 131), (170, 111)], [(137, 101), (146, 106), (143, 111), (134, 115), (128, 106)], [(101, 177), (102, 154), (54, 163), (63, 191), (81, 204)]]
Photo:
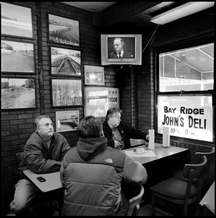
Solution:
[(49, 40), (79, 46), (79, 21), (49, 14)]

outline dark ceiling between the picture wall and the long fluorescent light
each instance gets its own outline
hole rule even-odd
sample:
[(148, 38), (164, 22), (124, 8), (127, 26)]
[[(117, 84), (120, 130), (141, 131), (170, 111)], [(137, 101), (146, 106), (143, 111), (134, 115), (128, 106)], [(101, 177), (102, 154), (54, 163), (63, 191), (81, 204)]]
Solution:
[[(93, 12), (98, 25), (112, 27), (115, 25), (132, 24), (136, 27), (155, 27), (151, 18), (173, 9), (188, 1), (67, 1), (63, 4)], [(98, 16), (99, 15), (99, 16)]]

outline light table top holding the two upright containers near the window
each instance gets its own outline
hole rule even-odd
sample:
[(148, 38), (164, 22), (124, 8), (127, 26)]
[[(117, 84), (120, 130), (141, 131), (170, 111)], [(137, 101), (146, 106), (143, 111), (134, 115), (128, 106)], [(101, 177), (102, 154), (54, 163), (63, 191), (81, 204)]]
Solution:
[(155, 143), (154, 150), (146, 150), (145, 152), (138, 154), (135, 149), (138, 149), (140, 147), (143, 146), (125, 149), (124, 151), (132, 159), (137, 160), (142, 164), (149, 163), (188, 150), (188, 148), (181, 148), (176, 146), (163, 147), (162, 144)]

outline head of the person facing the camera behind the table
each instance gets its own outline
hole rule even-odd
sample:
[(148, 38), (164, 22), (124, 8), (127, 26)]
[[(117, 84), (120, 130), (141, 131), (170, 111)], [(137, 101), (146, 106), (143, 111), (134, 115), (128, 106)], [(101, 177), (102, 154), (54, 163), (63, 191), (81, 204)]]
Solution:
[(121, 110), (119, 108), (110, 108), (106, 114), (106, 120), (110, 128), (116, 128), (121, 122)]

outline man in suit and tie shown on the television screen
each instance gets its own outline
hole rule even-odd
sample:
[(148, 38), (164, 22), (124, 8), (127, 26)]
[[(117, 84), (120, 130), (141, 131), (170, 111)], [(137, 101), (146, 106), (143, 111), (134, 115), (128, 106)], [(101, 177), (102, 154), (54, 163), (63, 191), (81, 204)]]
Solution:
[(121, 37), (113, 40), (113, 49), (109, 54), (109, 58), (134, 58), (134, 55), (126, 50), (125, 42)]

